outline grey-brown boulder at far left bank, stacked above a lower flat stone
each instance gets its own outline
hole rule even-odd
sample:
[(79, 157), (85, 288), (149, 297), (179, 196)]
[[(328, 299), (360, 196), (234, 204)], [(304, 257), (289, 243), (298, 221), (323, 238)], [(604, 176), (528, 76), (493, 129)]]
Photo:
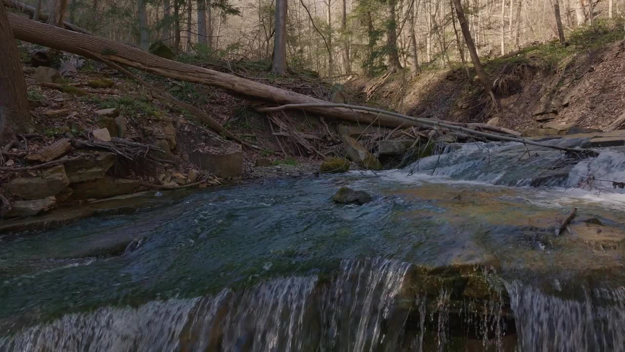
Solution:
[(69, 179), (63, 165), (42, 170), (34, 177), (18, 177), (9, 182), (8, 191), (23, 199), (41, 199), (56, 195), (68, 187)]

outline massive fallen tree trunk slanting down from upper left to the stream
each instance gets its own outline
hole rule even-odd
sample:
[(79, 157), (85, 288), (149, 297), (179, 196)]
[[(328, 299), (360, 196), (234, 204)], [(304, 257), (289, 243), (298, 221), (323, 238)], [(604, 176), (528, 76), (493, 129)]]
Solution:
[[(216, 86), (217, 88), (222, 88), (223, 90), (230, 91), (235, 95), (242, 96), (252, 101), (262, 100), (278, 105), (327, 103), (326, 101), (312, 98), (311, 96), (294, 93), (275, 86), (264, 85), (227, 73), (167, 60), (146, 53), (146, 51), (141, 49), (116, 43), (108, 39), (67, 31), (65, 29), (31, 21), (17, 14), (9, 14), (9, 23), (11, 24), (16, 39), (87, 56), (94, 60), (99, 60), (101, 56), (101, 58), (114, 63), (131, 66), (139, 70), (148, 71), (176, 80)], [(306, 111), (342, 120), (366, 123), (367, 125), (371, 123), (386, 127), (419, 125), (417, 122), (398, 118), (397, 116), (385, 115), (384, 113), (369, 113), (367, 111), (354, 111), (347, 108), (315, 105), (307, 107)], [(481, 128), (491, 130), (487, 125), (481, 125)], [(496, 132), (501, 132), (501, 130)]]

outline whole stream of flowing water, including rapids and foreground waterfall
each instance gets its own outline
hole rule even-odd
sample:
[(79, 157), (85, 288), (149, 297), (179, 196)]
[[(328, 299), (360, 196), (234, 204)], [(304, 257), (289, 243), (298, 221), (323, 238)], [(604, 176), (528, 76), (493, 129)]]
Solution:
[(6, 237), (0, 351), (625, 351), (624, 155), (451, 145)]

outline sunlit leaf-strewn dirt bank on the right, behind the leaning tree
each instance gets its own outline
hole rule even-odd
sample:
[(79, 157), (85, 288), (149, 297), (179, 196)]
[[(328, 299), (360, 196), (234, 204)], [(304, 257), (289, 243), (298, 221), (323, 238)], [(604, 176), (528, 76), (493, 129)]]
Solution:
[[(572, 33), (566, 47), (537, 44), (487, 61), (484, 66), (504, 109), (498, 125), (519, 131), (547, 122), (609, 126), (625, 113), (622, 32), (622, 24), (605, 24)], [(411, 116), (456, 122), (487, 122), (493, 116), (484, 109), (477, 79), (469, 82), (462, 68), (423, 71), (412, 80), (397, 73), (350, 84), (369, 103)]]

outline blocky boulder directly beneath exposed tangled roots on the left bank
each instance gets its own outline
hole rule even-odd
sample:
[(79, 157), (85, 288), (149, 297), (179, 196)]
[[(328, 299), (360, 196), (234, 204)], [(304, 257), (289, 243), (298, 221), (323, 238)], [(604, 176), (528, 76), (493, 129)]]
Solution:
[(113, 153), (94, 153), (81, 155), (76, 160), (65, 163), (65, 172), (69, 182), (86, 182), (101, 179), (115, 163)]

